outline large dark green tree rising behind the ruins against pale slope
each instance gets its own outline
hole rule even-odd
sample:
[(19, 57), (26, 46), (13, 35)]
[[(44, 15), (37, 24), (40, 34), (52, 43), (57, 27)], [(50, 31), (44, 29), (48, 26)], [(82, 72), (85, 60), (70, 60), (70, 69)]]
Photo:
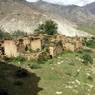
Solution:
[(53, 35), (57, 33), (57, 24), (52, 20), (47, 20), (43, 24), (38, 26), (38, 29), (35, 31), (46, 33), (48, 35)]

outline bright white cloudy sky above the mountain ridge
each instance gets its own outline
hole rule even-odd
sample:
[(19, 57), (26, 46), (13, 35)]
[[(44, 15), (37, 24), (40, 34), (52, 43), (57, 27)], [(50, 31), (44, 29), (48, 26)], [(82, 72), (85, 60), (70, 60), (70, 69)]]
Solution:
[[(28, 2), (36, 2), (39, 0), (26, 0)], [(50, 3), (54, 3), (54, 4), (63, 4), (63, 5), (79, 5), (79, 6), (83, 6), (92, 2), (95, 2), (95, 0), (43, 0), (46, 2), (50, 2)]]

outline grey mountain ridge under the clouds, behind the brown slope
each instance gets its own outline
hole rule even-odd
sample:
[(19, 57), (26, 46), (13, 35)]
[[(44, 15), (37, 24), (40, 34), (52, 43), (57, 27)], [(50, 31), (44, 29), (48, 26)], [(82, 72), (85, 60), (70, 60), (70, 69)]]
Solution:
[(44, 13), (58, 15), (62, 19), (66, 18), (77, 24), (92, 25), (95, 23), (95, 16), (90, 11), (76, 5), (63, 6), (38, 1), (36, 3), (31, 3), (31, 6)]

